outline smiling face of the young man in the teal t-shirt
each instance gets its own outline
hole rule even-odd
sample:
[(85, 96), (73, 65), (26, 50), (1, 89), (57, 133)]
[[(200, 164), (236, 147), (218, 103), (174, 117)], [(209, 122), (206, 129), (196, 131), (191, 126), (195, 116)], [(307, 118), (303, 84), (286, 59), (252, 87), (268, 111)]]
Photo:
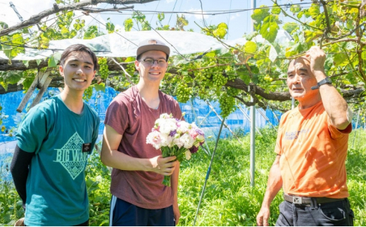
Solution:
[(84, 92), (95, 77), (92, 57), (82, 51), (74, 51), (60, 65), (60, 74), (65, 80), (65, 89)]

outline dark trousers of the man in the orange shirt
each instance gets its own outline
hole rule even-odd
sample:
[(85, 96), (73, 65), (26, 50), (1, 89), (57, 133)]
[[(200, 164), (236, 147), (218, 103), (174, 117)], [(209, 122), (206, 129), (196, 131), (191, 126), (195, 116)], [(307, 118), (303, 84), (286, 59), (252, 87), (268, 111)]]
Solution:
[(313, 207), (284, 201), (279, 205), (276, 226), (353, 226), (353, 217), (348, 199)]

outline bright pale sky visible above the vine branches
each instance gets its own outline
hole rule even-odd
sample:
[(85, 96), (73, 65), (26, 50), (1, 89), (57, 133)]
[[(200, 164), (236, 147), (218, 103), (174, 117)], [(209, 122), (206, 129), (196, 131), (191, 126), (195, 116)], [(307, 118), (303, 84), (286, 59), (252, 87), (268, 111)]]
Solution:
[[(201, 0), (203, 12), (213, 13), (212, 11), (229, 11), (238, 9), (251, 9), (251, 0)], [(299, 0), (277, 0), (279, 4), (291, 4), (296, 3)], [(13, 26), (20, 22), (18, 16), (15, 14), (13, 9), (10, 7), (10, 1), (0, 0), (0, 21), (6, 22), (9, 26)], [(23, 17), (23, 20), (29, 19), (32, 15), (36, 15), (42, 11), (45, 11), (53, 7), (54, 0), (11, 0), (18, 10), (18, 13)], [(309, 0), (310, 2), (310, 0)], [(272, 6), (270, 0), (256, 0), (256, 6), (267, 5)], [(130, 6), (130, 5), (129, 5)], [(99, 4), (94, 6), (97, 8), (112, 8), (111, 4)], [(118, 5), (117, 7), (123, 7)], [(147, 4), (134, 4), (134, 10), (142, 11), (146, 15), (146, 19), (151, 22), (152, 27), (156, 27), (157, 14), (149, 13), (144, 11), (178, 11), (178, 12), (191, 12), (198, 14), (184, 14), (186, 19), (189, 21), (189, 25), (186, 28), (193, 29), (195, 32), (200, 32), (200, 28), (195, 22), (203, 26), (203, 18), (201, 13), (201, 3), (198, 0), (160, 0), (153, 1)], [(211, 11), (211, 12), (210, 12)], [(181, 15), (182, 13), (178, 13)], [(225, 39), (237, 39), (243, 37), (244, 34), (252, 31), (251, 24), (251, 13), (252, 11), (241, 11), (236, 13), (217, 14), (217, 15), (204, 15), (206, 24), (218, 25), (220, 22), (225, 22), (229, 26), (229, 31)], [(76, 15), (82, 15), (80, 11), (75, 11)], [(130, 18), (132, 12), (123, 11), (123, 13), (98, 13), (92, 14), (92, 16), (82, 15), (82, 19), (86, 20), (86, 25), (98, 25), (101, 30), (104, 30), (108, 18), (115, 24), (116, 29), (124, 30), (123, 22)], [(50, 16), (49, 18), (53, 18)], [(95, 18), (95, 19), (94, 19)], [(165, 13), (165, 19), (163, 25), (175, 26), (177, 13)], [(97, 21), (98, 20), (98, 21)], [(37, 27), (33, 28), (37, 30)], [(134, 26), (132, 30), (137, 30)]]

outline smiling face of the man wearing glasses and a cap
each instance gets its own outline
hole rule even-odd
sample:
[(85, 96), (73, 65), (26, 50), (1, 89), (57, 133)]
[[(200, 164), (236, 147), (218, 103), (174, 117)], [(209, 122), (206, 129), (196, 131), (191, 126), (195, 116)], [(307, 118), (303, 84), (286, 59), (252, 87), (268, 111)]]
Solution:
[[(151, 58), (154, 60), (153, 65), (149, 66), (144, 63), (146, 58)], [(164, 78), (165, 72), (168, 68), (168, 63), (165, 65), (160, 66), (156, 60), (165, 59), (167, 55), (163, 51), (146, 51), (142, 53), (139, 60), (134, 62), (137, 70), (140, 74), (140, 79), (144, 79), (145, 82), (158, 82)]]

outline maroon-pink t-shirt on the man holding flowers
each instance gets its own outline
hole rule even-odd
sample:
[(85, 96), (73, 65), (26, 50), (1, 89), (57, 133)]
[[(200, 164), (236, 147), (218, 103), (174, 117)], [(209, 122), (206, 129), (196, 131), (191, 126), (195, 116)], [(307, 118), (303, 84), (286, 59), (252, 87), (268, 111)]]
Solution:
[[(159, 91), (158, 109), (150, 108), (141, 99), (136, 86), (118, 94), (106, 112), (104, 124), (122, 135), (118, 151), (137, 158), (161, 155), (146, 136), (151, 132), (156, 119), (163, 113), (172, 113), (180, 119), (182, 112), (174, 98)], [(173, 203), (172, 188), (163, 185), (164, 176), (152, 171), (124, 171), (113, 169), (111, 193), (121, 200), (145, 209), (163, 209)]]

